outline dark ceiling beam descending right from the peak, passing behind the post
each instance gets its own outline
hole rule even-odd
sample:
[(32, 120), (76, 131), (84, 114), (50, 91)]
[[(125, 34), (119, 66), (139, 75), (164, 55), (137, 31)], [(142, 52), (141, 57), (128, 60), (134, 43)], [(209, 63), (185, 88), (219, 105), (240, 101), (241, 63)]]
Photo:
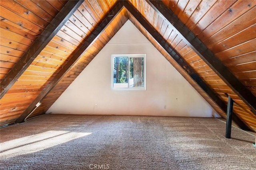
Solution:
[[(163, 49), (181, 66), (181, 68), (204, 90), (204, 92), (224, 111), (226, 112), (226, 104), (220, 100), (220, 98), (216, 95), (216, 93), (208, 87), (208, 85), (200, 78), (200, 76), (180, 57), (172, 47), (168, 45), (168, 42), (152, 27), (152, 25), (140, 14), (132, 4), (128, 1), (124, 1), (124, 7), (130, 12), (132, 16), (144, 27), (146, 31), (155, 39), (155, 41), (163, 47)], [(249, 128), (240, 120), (235, 120), (236, 124), (244, 130), (248, 130)]]

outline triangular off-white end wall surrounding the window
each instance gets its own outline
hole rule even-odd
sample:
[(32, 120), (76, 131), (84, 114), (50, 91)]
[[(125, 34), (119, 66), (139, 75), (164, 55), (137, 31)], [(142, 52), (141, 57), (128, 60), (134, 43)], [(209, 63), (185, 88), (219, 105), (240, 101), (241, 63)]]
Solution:
[[(111, 54), (136, 53), (147, 55), (147, 90), (112, 90)], [(129, 20), (56, 100), (50, 112), (196, 117), (216, 114)]]

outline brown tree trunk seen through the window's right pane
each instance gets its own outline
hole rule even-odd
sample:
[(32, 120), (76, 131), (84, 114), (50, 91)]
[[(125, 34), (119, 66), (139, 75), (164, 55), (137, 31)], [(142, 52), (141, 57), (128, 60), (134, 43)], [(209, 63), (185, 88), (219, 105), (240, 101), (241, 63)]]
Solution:
[(134, 60), (134, 65), (133, 65), (134, 87), (141, 87), (142, 86), (142, 58), (134, 57), (133, 60)]

